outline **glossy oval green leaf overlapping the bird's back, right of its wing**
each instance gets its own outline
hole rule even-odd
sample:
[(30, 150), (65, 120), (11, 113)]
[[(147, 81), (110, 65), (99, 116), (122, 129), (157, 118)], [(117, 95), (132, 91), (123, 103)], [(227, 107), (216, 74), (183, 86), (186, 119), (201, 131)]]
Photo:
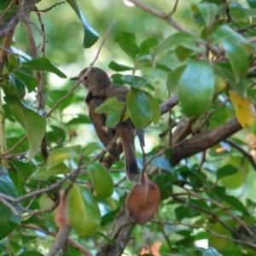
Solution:
[(152, 118), (150, 101), (143, 90), (131, 88), (127, 96), (127, 110), (137, 128), (144, 128)]

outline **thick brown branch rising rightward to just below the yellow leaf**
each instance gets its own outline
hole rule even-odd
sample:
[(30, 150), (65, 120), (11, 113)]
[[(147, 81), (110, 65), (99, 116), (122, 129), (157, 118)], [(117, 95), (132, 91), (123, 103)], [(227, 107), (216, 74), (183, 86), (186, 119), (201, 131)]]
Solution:
[(171, 163), (177, 164), (180, 160), (187, 158), (193, 154), (199, 153), (213, 145), (223, 141), (225, 138), (230, 137), (236, 131), (241, 130), (241, 125), (237, 119), (231, 119), (224, 125), (218, 126), (212, 131), (207, 131), (196, 137), (192, 137), (179, 143), (172, 150)]

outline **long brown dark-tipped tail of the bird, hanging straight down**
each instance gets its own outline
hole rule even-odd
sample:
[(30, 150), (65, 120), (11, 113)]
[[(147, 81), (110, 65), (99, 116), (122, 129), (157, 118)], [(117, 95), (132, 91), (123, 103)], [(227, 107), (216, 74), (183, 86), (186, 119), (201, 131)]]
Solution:
[(121, 125), (119, 127), (119, 137), (123, 145), (123, 150), (125, 154), (125, 171), (128, 180), (131, 182), (138, 182), (139, 179), (139, 169), (137, 167), (137, 159), (134, 147), (134, 128), (126, 127)]

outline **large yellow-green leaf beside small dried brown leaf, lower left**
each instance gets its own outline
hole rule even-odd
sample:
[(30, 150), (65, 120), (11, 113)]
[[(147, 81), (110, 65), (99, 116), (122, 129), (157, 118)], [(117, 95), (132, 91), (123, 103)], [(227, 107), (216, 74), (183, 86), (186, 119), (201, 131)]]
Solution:
[(90, 236), (101, 224), (96, 199), (79, 184), (73, 184), (67, 196), (70, 224), (79, 236)]

